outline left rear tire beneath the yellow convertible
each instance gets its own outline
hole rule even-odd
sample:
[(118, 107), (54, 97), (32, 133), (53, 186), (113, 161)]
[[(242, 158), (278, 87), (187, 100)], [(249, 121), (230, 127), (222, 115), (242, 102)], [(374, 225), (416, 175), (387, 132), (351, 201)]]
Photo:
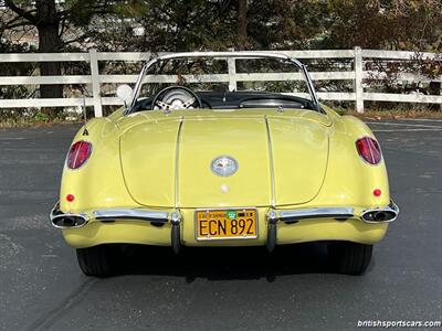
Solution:
[(117, 248), (113, 245), (98, 245), (77, 248), (80, 268), (87, 276), (108, 277), (116, 271)]

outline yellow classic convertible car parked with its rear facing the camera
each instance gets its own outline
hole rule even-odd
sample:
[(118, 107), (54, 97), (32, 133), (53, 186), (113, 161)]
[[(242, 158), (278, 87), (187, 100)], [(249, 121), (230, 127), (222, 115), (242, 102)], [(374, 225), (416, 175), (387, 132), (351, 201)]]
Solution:
[[(240, 61), (244, 82), (231, 84), (222, 70)], [(287, 79), (263, 82), (274, 63), (290, 67), (280, 74)], [(210, 64), (217, 68), (201, 74)], [(251, 68), (261, 71), (257, 83)], [(118, 90), (125, 106), (75, 136), (50, 214), (86, 275), (112, 275), (120, 244), (272, 252), (305, 242), (327, 243), (336, 271), (359, 275), (398, 216), (373, 134), (319, 104), (297, 60), (168, 54)]]

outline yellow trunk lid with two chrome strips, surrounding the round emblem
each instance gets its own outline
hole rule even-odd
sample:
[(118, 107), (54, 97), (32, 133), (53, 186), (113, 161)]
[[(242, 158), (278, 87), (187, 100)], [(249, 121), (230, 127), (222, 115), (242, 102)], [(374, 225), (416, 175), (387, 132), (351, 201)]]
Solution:
[[(325, 116), (210, 114), (145, 118), (122, 135), (123, 173), (135, 201), (267, 206), (305, 203), (319, 192), (328, 157)], [(234, 174), (212, 171), (221, 156), (236, 160)]]

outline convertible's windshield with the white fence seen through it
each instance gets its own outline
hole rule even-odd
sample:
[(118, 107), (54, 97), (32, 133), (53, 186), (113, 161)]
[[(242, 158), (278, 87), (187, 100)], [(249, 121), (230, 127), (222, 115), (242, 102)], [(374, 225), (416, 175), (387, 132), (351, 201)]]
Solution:
[(180, 53), (144, 66), (129, 113), (275, 107), (319, 110), (301, 62), (256, 52)]

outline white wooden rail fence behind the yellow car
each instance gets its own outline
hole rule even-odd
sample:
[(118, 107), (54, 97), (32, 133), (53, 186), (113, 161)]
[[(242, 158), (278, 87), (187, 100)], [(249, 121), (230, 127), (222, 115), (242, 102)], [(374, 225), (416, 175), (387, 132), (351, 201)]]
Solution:
[[(270, 52), (271, 53), (271, 52)], [(400, 51), (373, 51), (354, 50), (344, 51), (277, 51), (274, 53), (284, 53), (292, 57), (299, 58), (350, 58), (354, 61), (352, 71), (338, 72), (311, 72), (313, 81), (352, 81), (354, 90), (348, 92), (320, 92), (319, 99), (323, 100), (347, 100), (355, 102), (356, 109), (364, 113), (364, 102), (393, 102), (393, 103), (422, 103), (422, 104), (441, 104), (441, 95), (423, 95), (423, 94), (387, 94), (387, 93), (368, 93), (365, 90), (364, 79), (373, 76), (382, 78), (385, 73), (370, 72), (365, 70), (365, 63), (371, 60), (396, 60), (396, 61), (413, 61), (417, 53)], [(436, 60), (436, 54), (419, 53), (422, 60)], [(114, 83), (135, 83), (137, 75), (105, 75), (98, 73), (98, 62), (101, 61), (125, 61), (141, 62), (151, 57), (150, 53), (101, 53), (91, 50), (88, 53), (32, 53), (32, 54), (0, 54), (0, 63), (17, 62), (87, 62), (91, 65), (91, 75), (64, 75), (64, 76), (2, 76), (0, 73), (0, 85), (42, 85), (42, 84), (87, 84), (92, 85), (92, 97), (78, 98), (29, 98), (29, 99), (1, 99), (0, 108), (27, 108), (27, 107), (73, 107), (93, 106), (95, 116), (103, 116), (103, 105), (122, 105), (122, 100), (117, 97), (103, 97), (101, 95), (102, 84)], [(235, 72), (235, 62), (229, 61), (229, 73), (218, 75), (185, 76), (186, 81), (191, 82), (225, 82), (230, 88), (235, 88), (238, 82), (259, 82), (259, 81), (297, 81), (303, 79), (301, 74), (262, 74), (248, 73), (240, 74)], [(175, 83), (177, 76), (156, 75), (148, 76), (151, 83)], [(400, 81), (414, 83), (442, 82), (442, 77), (429, 79), (418, 75), (404, 74), (398, 77)]]

